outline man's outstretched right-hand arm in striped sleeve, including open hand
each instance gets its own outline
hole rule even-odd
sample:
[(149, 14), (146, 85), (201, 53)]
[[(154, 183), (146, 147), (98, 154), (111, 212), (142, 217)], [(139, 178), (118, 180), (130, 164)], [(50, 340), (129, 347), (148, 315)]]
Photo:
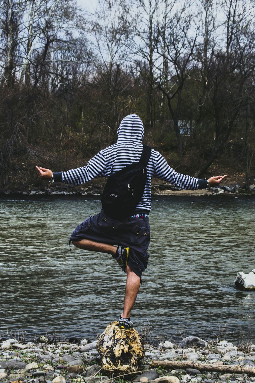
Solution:
[(218, 186), (226, 175), (218, 175), (210, 177), (208, 180), (200, 180), (190, 175), (184, 175), (175, 172), (167, 163), (167, 160), (158, 153), (157, 163), (155, 165), (154, 177), (168, 181), (182, 189), (206, 189), (209, 186)]

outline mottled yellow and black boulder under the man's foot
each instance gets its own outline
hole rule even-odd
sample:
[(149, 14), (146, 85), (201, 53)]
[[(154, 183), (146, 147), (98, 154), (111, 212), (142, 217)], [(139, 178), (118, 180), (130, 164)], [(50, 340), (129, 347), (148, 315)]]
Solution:
[(135, 329), (120, 329), (117, 324), (118, 321), (108, 324), (98, 339), (102, 367), (110, 372), (135, 372), (145, 355), (142, 340)]

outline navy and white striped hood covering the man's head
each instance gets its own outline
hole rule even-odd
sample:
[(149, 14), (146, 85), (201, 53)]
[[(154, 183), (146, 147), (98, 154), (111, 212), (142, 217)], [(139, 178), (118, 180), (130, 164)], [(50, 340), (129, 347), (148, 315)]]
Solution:
[(141, 118), (134, 113), (124, 117), (119, 125), (117, 133), (118, 142), (133, 141), (142, 143), (142, 138), (144, 136), (144, 125)]

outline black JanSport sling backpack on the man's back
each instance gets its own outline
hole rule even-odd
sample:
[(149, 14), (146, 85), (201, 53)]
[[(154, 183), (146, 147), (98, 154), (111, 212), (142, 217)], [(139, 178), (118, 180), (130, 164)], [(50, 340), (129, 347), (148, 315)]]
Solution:
[(143, 145), (139, 162), (133, 162), (108, 178), (101, 198), (104, 212), (112, 218), (134, 213), (144, 194), (151, 147)]

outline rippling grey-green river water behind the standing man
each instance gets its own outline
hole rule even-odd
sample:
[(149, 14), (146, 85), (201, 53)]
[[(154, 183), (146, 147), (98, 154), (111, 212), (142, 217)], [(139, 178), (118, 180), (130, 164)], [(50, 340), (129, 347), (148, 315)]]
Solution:
[[(97, 198), (97, 197), (96, 197)], [(196, 335), (255, 340), (255, 291), (238, 271), (255, 268), (249, 197), (164, 197), (150, 214), (150, 261), (132, 320), (153, 339)], [(122, 311), (125, 275), (108, 254), (72, 247), (75, 226), (100, 201), (0, 199), (0, 333), (46, 331), (96, 339)]]

